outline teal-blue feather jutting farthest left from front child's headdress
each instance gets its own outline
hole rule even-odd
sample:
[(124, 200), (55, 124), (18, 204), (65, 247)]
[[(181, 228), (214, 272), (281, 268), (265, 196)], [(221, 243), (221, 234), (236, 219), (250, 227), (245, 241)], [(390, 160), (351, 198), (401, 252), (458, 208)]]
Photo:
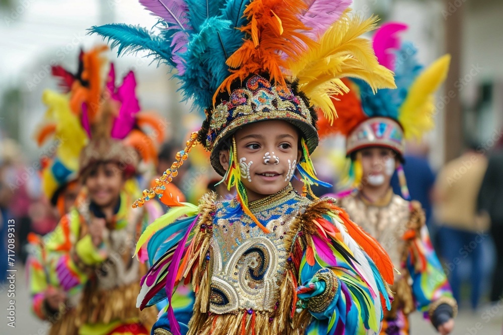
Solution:
[(145, 28), (126, 24), (109, 24), (100, 27), (93, 26), (90, 34), (98, 34), (111, 43), (111, 48), (118, 47), (117, 54), (136, 53), (147, 50), (154, 55), (155, 60), (164, 60), (171, 66), (176, 66), (172, 59), (170, 44), (159, 36), (153, 35)]

